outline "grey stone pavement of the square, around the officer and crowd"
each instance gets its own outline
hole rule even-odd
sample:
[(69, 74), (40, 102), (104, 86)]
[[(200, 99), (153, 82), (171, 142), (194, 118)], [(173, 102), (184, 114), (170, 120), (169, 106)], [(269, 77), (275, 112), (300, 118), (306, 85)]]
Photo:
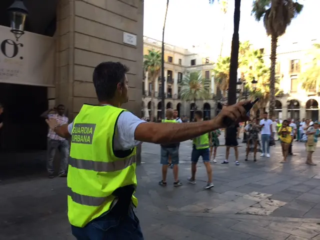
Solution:
[[(221, 139), (223, 142), (223, 139)], [(225, 147), (218, 148), (218, 163), (212, 164), (214, 187), (204, 190), (206, 172), (199, 161), (196, 184), (188, 184), (191, 142), (180, 145), (179, 178), (184, 185), (159, 186), (161, 178), (158, 145), (143, 143), (137, 166), (136, 209), (146, 240), (180, 239), (272, 239), (320, 240), (320, 161), (304, 163), (303, 143), (295, 142), (294, 156), (279, 163), (279, 143), (271, 157), (240, 165), (220, 164)], [(74, 239), (66, 217), (65, 178), (42, 176), (0, 182), (0, 239)]]

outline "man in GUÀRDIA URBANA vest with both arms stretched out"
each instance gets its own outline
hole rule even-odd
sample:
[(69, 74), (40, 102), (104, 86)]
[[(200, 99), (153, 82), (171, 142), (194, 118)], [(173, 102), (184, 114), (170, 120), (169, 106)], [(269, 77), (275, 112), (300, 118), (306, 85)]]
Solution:
[(224, 127), (224, 117), (247, 120), (241, 101), (208, 121), (176, 124), (145, 122), (120, 108), (128, 101), (129, 68), (102, 62), (93, 71), (98, 105), (83, 104), (73, 122), (46, 119), (59, 136), (71, 137), (67, 174), (68, 218), (78, 240), (142, 240), (133, 212), (136, 146), (141, 142), (175, 143)]

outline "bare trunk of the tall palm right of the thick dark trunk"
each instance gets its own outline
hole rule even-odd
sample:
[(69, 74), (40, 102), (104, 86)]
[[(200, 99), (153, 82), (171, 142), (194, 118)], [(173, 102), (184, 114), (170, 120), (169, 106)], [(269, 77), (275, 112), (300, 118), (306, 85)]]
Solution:
[(275, 62), (276, 62), (276, 44), (278, 38), (271, 35), (271, 66), (270, 66), (270, 102), (269, 102), (269, 118), (273, 116), (275, 107)]

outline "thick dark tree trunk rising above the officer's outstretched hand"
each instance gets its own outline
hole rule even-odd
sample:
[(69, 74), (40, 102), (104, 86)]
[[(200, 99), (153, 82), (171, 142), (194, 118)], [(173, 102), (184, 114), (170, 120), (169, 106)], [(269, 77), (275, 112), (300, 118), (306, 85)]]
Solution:
[(231, 60), (229, 72), (228, 105), (236, 103), (236, 75), (239, 57), (239, 24), (241, 0), (234, 0), (233, 35), (231, 43)]

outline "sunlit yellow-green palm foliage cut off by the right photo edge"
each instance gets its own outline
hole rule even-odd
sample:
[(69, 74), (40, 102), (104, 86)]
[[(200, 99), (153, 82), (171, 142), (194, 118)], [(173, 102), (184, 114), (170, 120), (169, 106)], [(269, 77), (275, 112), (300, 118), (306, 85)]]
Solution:
[(320, 85), (320, 44), (314, 44), (312, 49), (311, 57), (313, 60), (308, 63), (308, 68), (301, 74), (302, 87), (307, 91), (319, 92)]

